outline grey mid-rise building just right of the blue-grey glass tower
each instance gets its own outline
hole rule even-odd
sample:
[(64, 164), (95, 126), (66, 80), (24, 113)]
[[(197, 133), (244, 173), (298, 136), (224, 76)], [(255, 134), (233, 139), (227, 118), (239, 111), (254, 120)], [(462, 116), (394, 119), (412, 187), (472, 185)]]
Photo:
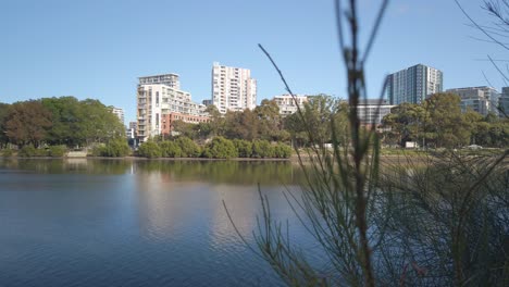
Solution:
[(498, 98), (500, 93), (492, 87), (464, 87), (448, 89), (447, 92), (458, 95), (461, 98), (461, 111), (469, 109), (486, 116), (489, 112), (498, 115)]

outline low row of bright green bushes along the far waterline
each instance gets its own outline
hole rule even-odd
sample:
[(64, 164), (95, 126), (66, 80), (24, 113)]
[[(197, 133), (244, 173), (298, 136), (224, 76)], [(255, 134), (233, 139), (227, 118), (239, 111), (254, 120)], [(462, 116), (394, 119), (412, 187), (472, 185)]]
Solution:
[(206, 145), (198, 145), (188, 137), (173, 140), (149, 140), (140, 145), (138, 155), (154, 158), (207, 158), (207, 159), (287, 159), (291, 147), (282, 142), (271, 144), (264, 139), (252, 141), (244, 139), (229, 140), (214, 137)]

